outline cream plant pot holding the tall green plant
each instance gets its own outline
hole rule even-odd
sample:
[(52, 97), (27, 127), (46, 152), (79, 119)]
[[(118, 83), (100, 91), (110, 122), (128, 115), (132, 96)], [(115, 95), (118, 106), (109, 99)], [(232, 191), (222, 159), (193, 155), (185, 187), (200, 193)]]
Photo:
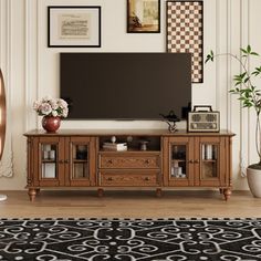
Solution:
[(253, 197), (261, 198), (261, 169), (248, 167), (247, 178), (250, 191)]

